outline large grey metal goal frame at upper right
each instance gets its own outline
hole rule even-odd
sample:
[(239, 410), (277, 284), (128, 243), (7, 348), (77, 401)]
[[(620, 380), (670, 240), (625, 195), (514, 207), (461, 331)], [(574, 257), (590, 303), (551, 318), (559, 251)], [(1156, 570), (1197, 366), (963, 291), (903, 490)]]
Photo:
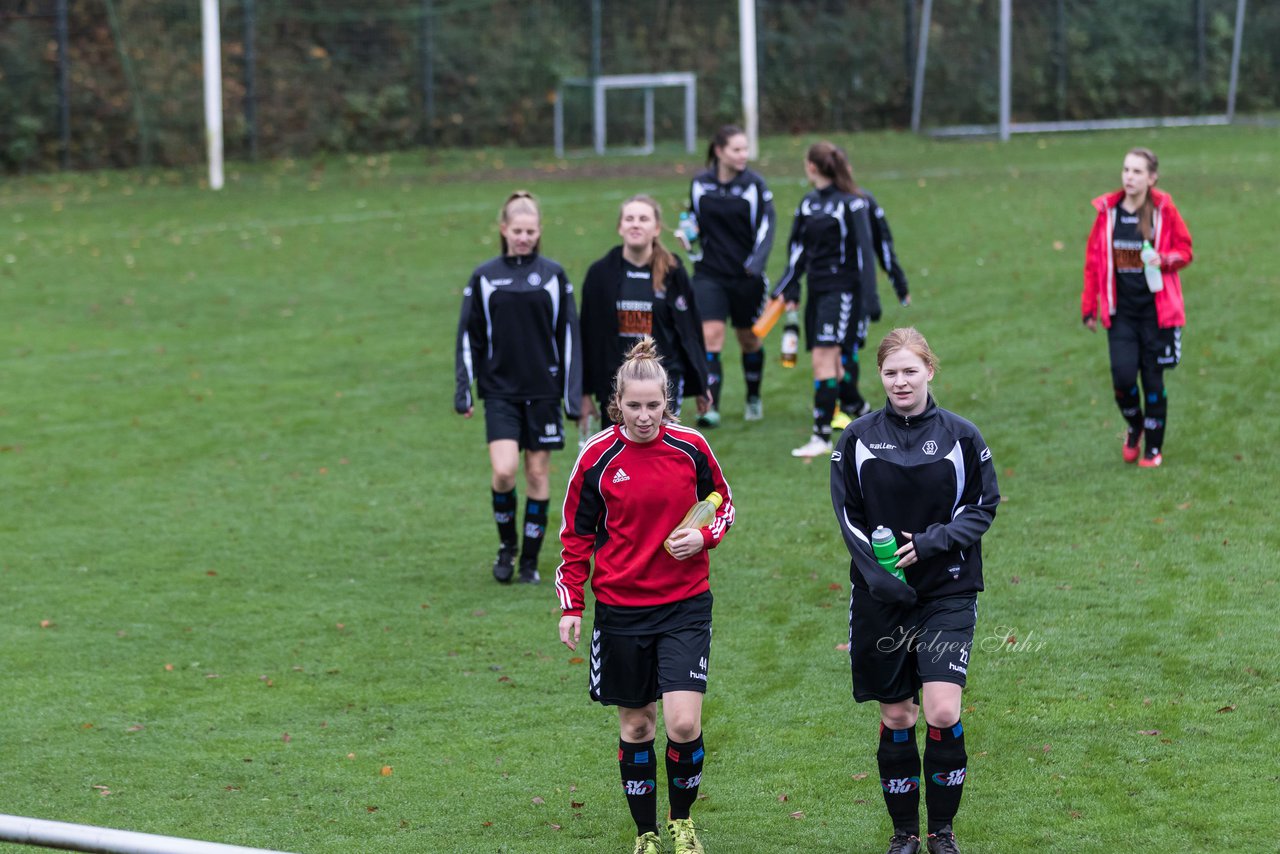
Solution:
[[(1132, 119), (1083, 119), (1074, 122), (1020, 122), (1010, 120), (1012, 91), (1012, 0), (1000, 0), (1000, 118), (991, 124), (955, 124), (929, 131), (936, 137), (991, 136), (998, 133), (1006, 142), (1012, 133), (1052, 133), (1059, 131), (1120, 131), (1129, 128), (1188, 127), (1231, 124), (1235, 120), (1235, 91), (1240, 78), (1240, 45), (1244, 41), (1244, 13), (1247, 0), (1235, 4), (1235, 35), (1231, 41), (1231, 72), (1226, 90), (1226, 113), (1212, 115), (1148, 117)], [(920, 132), (920, 113), (924, 104), (924, 67), (929, 55), (929, 24), (933, 0), (924, 0), (920, 13), (920, 35), (915, 54), (915, 81), (911, 87), (911, 132)]]

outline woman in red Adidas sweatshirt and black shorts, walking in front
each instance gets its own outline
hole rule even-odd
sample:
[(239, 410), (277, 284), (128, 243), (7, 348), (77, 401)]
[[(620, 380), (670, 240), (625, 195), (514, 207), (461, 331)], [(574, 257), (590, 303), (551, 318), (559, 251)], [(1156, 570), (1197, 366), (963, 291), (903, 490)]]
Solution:
[[(690, 809), (703, 778), (703, 695), (712, 644), (708, 551), (733, 524), (733, 495), (698, 430), (668, 410), (667, 373), (653, 338), (627, 353), (614, 380), (614, 425), (588, 440), (570, 474), (556, 593), (559, 639), (576, 649), (584, 588), (595, 617), (589, 693), (618, 707), (618, 769), (636, 823), (635, 854), (659, 854), (658, 700), (676, 854), (701, 854)], [(701, 528), (676, 528), (689, 508), (721, 497)], [(714, 498), (712, 498), (714, 501)]]

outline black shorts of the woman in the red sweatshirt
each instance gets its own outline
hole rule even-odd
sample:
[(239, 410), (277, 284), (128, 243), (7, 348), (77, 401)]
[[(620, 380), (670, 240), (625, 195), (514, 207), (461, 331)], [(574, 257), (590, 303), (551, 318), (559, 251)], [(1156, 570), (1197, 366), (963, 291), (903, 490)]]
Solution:
[[(692, 608), (699, 612), (698, 620), (684, 622), (668, 618), (648, 634), (602, 626), (598, 603), (588, 673), (591, 699), (602, 705), (643, 708), (667, 691), (705, 694), (712, 621), (708, 616), (710, 597), (695, 597), (703, 599), (698, 606), (705, 606)], [(689, 602), (692, 604), (695, 600)], [(668, 616), (678, 617), (682, 604), (676, 603), (675, 613), (668, 611)]]

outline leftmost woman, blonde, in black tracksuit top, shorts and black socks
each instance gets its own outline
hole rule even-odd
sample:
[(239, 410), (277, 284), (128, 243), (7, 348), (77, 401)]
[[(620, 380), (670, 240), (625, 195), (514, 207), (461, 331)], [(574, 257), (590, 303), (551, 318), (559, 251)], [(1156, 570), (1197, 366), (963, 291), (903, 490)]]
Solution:
[[(471, 384), (485, 402), (485, 435), (493, 467), (493, 517), (498, 557), (493, 577), (538, 584), (538, 553), (547, 533), (550, 452), (564, 447), (561, 407), (577, 419), (582, 401), (577, 309), (564, 269), (539, 255), (541, 214), (526, 192), (515, 192), (498, 219), (502, 255), (471, 274), (458, 319), (453, 408), (471, 417)], [(516, 472), (525, 456), (525, 542), (516, 529)]]

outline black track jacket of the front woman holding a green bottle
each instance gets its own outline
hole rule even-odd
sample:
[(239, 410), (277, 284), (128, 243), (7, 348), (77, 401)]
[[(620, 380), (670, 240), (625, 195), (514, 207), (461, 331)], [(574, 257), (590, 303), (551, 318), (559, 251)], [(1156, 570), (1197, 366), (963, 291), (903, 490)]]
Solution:
[[(831, 502), (852, 560), (855, 588), (910, 606), (982, 590), (982, 535), (1000, 504), (991, 449), (972, 423), (929, 397), (920, 415), (884, 408), (858, 419), (831, 455)], [(899, 545), (915, 535), (919, 561), (906, 584), (876, 562), (870, 534), (883, 525)]]

